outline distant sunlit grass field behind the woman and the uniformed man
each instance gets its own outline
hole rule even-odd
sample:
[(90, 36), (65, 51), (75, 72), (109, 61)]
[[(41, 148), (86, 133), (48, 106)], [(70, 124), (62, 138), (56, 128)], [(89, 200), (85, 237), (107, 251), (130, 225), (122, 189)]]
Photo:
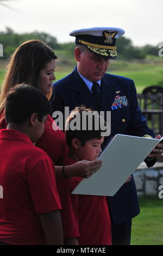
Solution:
[[(163, 83), (163, 58), (155, 57), (154, 60), (144, 62), (124, 62), (122, 60), (111, 60), (108, 73), (129, 77), (134, 80), (137, 93), (148, 86), (156, 85), (159, 81)], [(72, 68), (58, 64), (55, 76), (57, 80), (68, 75)], [(0, 86), (4, 77), (4, 69), (0, 66)], [(56, 80), (56, 81), (57, 81)], [(162, 84), (163, 86), (163, 84)]]

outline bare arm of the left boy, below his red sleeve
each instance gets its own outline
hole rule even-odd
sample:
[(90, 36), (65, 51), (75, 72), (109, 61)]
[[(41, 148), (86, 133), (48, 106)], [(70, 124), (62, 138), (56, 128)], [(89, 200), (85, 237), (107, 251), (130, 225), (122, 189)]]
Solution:
[(48, 245), (63, 245), (63, 232), (59, 210), (39, 214)]

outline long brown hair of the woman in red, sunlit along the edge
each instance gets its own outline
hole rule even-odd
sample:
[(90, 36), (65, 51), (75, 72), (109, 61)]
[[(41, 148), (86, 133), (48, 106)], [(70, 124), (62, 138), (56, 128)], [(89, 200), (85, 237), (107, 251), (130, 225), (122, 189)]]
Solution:
[[(1, 120), (4, 118), (5, 100), (10, 89), (17, 84), (27, 83), (42, 90), (39, 81), (40, 71), (53, 59), (57, 59), (57, 56), (52, 48), (39, 40), (24, 42), (15, 50), (10, 58), (0, 94)], [(51, 98), (52, 88), (46, 96), (48, 99)]]

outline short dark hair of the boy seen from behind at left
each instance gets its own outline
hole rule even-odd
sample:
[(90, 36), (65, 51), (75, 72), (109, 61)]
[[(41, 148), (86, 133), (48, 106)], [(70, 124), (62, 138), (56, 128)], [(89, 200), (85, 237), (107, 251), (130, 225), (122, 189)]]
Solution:
[(37, 113), (41, 122), (51, 112), (51, 103), (47, 97), (39, 89), (24, 83), (9, 92), (5, 103), (7, 123), (23, 124), (33, 113)]

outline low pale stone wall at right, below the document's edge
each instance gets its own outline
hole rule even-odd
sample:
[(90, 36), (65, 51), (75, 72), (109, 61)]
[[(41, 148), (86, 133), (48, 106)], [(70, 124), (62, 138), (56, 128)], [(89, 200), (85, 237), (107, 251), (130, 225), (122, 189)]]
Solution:
[(133, 175), (138, 196), (156, 196), (163, 185), (163, 163), (155, 163), (151, 168), (142, 163)]

